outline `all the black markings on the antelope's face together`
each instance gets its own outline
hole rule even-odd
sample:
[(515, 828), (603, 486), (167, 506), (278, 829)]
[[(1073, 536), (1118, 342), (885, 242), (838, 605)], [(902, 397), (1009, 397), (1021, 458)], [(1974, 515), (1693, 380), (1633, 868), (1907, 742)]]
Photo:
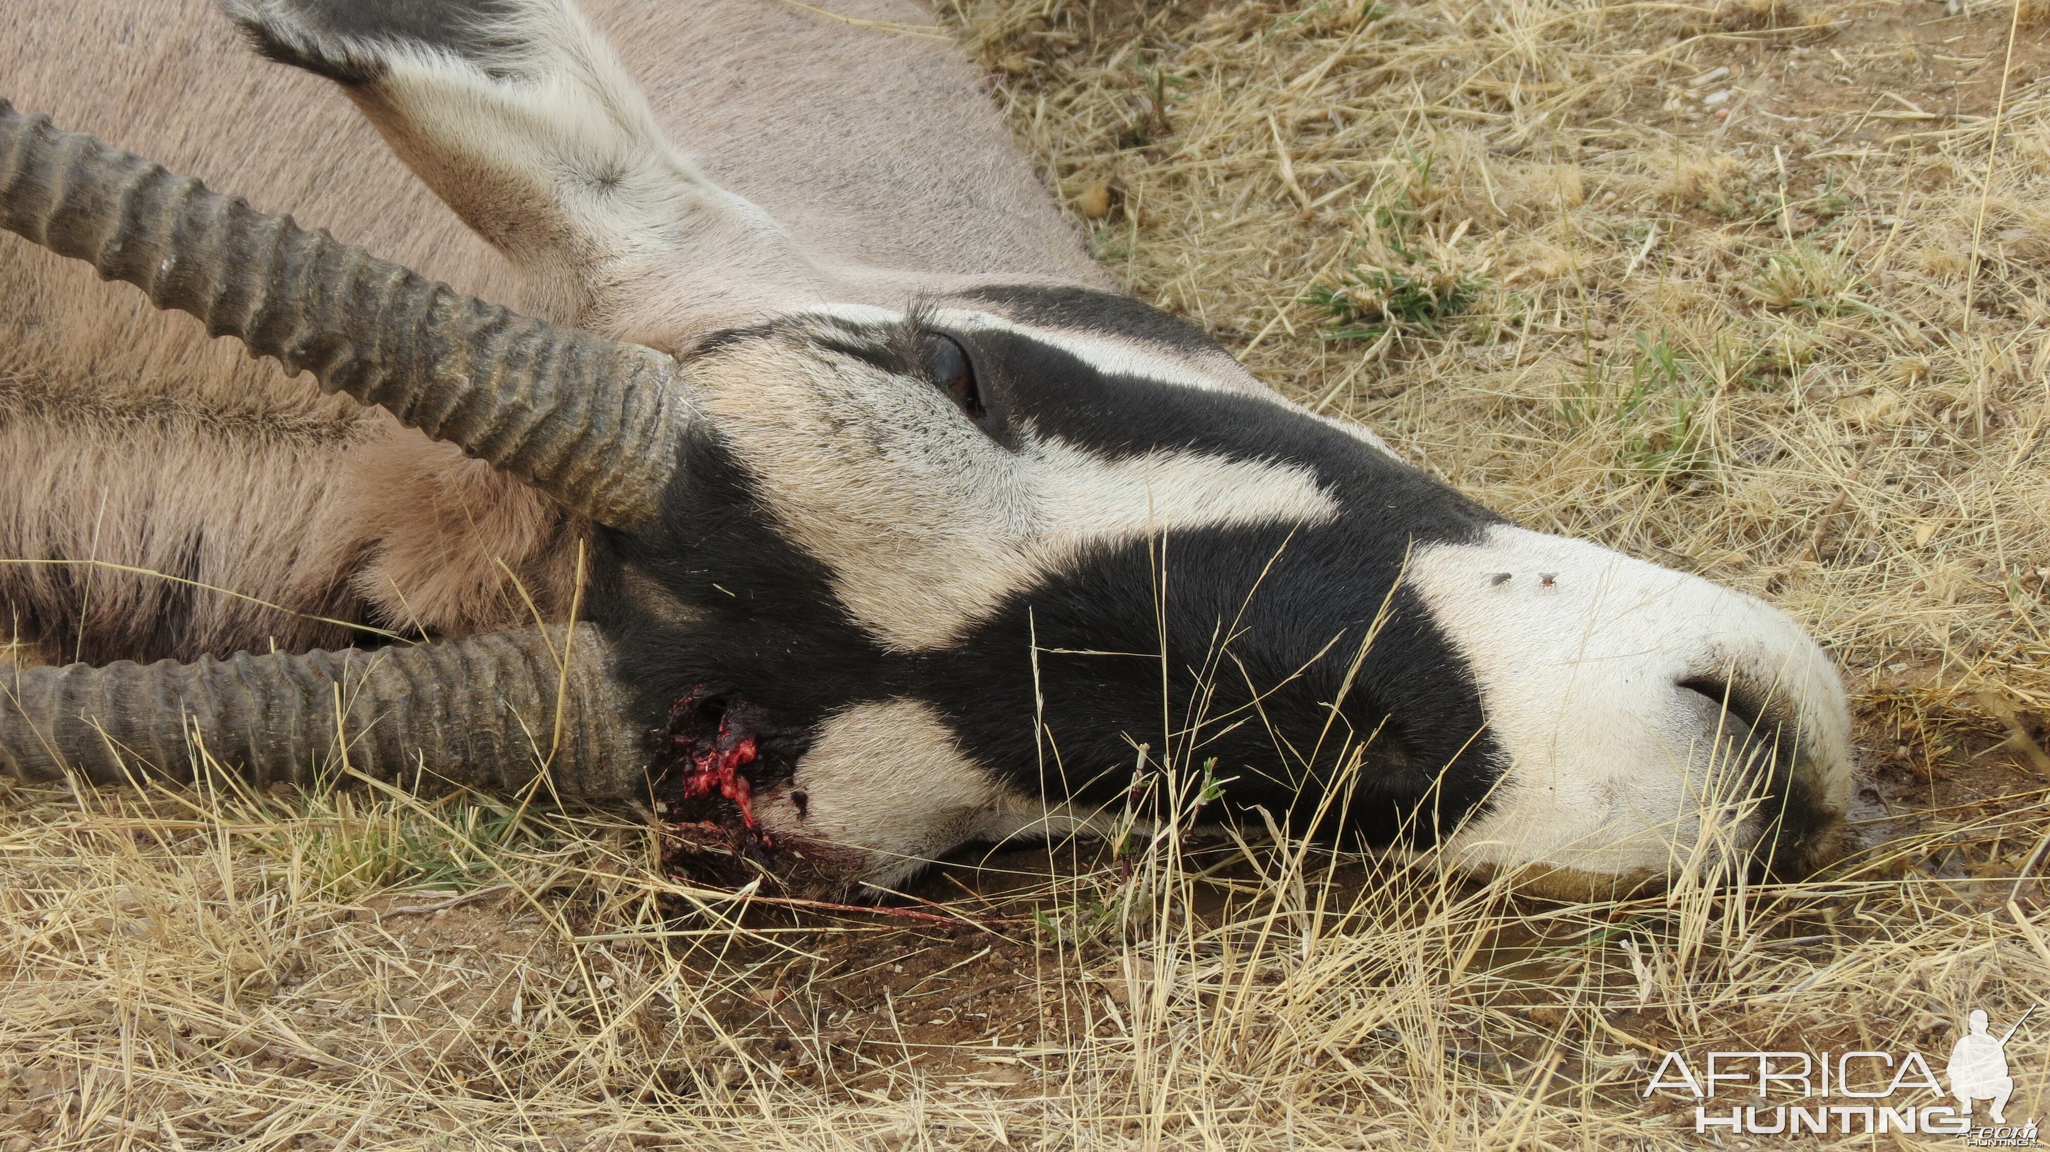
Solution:
[[(886, 330), (773, 324), (761, 334), (802, 338), (927, 385), (914, 357), (933, 328), (914, 312)], [(830, 334), (838, 330), (847, 330), (845, 340)], [(1214, 758), (1216, 773), (1232, 779), (1212, 814), (1265, 806), (1277, 816), (1296, 812), (1298, 828), (1308, 820), (1302, 806), (1320, 799), (1314, 785), (1332, 777), (1341, 752), (1378, 734), (1351, 806), (1339, 814), (1343, 826), (1388, 842), (1414, 824), (1410, 838), (1429, 842), (1484, 806), (1501, 748), (1484, 732), (1472, 672), (1414, 596), (1392, 596), (1392, 619), (1343, 699), (1341, 685), (1408, 549), (1472, 541), (1496, 517), (1281, 404), (1101, 373), (1027, 334), (949, 334), (968, 346), (992, 400), (1039, 437), (1105, 457), (1185, 449), (1306, 467), (1337, 498), (1339, 517), (1175, 531), (1164, 541), (1164, 568), (1158, 541), (1105, 541), (1066, 572), (1011, 594), (947, 650), (884, 652), (838, 603), (832, 572), (775, 531), (754, 478), (701, 428), (685, 445), (662, 531), (619, 543), (621, 564), (672, 592), (697, 619), (664, 623), (623, 590), (601, 615), (646, 726), (707, 685), (744, 697), (769, 715), (763, 767), (750, 775), (773, 783), (830, 715), (910, 697), (935, 707), (974, 763), (1025, 791), (1043, 785), (1054, 795), (1072, 789), (1084, 801), (1115, 804), (1130, 785), (1134, 744), (1152, 744), (1158, 760), (1173, 742), (1166, 754), (1179, 767), (1199, 773)], [(1173, 740), (1162, 736), (1156, 570), (1168, 586), (1164, 699)], [(1214, 652), (1224, 635), (1230, 642)], [(1207, 705), (1197, 705), (1203, 693)], [(1050, 748), (1058, 748), (1058, 758), (1048, 752), (1046, 779), (1039, 717)], [(810, 799), (814, 810), (820, 801)]]

